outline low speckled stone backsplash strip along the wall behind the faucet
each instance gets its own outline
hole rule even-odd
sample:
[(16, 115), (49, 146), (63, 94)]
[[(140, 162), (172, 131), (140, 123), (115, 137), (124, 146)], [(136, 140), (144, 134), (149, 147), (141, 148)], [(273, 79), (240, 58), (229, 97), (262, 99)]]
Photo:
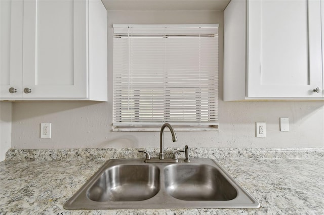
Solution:
[[(117, 159), (144, 158), (138, 150), (143, 148), (89, 148), (89, 149), (10, 149), (7, 160), (69, 160), (69, 159)], [(180, 148), (166, 148), (165, 157)], [(145, 148), (157, 157), (158, 148)], [(184, 158), (184, 153), (179, 154)], [(324, 157), (324, 148), (189, 148), (190, 158), (314, 158)]]

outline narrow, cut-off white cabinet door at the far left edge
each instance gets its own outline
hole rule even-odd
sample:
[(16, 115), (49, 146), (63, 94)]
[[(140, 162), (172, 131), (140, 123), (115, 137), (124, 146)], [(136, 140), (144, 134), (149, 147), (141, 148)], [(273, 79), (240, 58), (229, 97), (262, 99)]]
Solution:
[(0, 16), (0, 98), (17, 98), (22, 96), (22, 0), (0, 1)]

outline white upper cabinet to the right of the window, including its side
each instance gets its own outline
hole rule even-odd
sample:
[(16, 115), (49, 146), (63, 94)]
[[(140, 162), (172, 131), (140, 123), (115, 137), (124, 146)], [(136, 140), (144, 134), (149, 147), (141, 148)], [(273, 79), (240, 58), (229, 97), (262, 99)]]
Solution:
[(224, 11), (224, 100), (322, 99), (319, 0), (232, 0)]

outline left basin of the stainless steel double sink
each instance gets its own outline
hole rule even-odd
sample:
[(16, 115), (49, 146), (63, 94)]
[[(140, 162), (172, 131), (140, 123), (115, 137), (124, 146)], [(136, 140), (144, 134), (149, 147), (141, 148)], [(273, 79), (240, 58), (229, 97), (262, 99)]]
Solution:
[(93, 201), (142, 201), (159, 191), (159, 169), (153, 165), (124, 164), (106, 169), (88, 189)]

